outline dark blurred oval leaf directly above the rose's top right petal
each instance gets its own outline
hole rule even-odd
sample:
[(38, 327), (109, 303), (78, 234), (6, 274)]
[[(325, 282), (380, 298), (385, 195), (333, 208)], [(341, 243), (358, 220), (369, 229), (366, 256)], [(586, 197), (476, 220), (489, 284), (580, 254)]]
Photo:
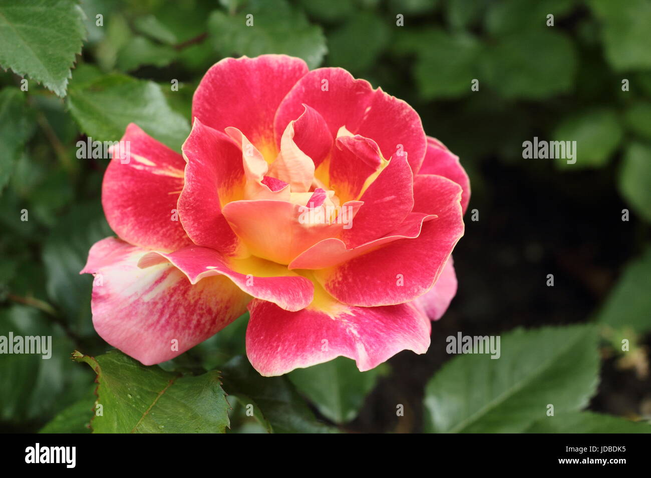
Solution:
[(328, 62), (352, 73), (364, 72), (380, 56), (389, 41), (389, 33), (387, 23), (377, 15), (356, 14), (330, 34)]

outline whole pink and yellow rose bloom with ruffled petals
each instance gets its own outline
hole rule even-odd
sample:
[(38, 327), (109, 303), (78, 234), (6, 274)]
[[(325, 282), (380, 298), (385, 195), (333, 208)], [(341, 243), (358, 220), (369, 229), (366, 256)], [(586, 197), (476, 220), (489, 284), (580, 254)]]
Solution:
[(419, 115), (341, 68), (262, 55), (212, 66), (192, 116), (183, 155), (130, 124), (105, 172), (118, 237), (81, 271), (98, 276), (98, 334), (158, 364), (248, 309), (266, 376), (426, 352), (456, 293), (470, 189)]

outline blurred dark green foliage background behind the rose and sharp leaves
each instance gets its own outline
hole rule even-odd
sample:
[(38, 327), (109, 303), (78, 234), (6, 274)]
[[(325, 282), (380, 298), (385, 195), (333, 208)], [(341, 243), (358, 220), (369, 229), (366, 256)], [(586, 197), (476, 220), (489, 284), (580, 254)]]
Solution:
[[(458, 295), (433, 324), (430, 350), (389, 360), (342, 429), (422, 431), (424, 386), (458, 331), (588, 321), (602, 357), (589, 409), (651, 418), (650, 1), (80, 5), (87, 40), (66, 98), (35, 82), (20, 94), (21, 77), (0, 73), (0, 334), (51, 335), (55, 349), (50, 360), (0, 356), (0, 431), (38, 431), (92, 393), (94, 374), (68, 354), (109, 349), (92, 328), (92, 277), (78, 273), (90, 245), (112, 233), (100, 204), (108, 161), (77, 159), (76, 142), (119, 139), (135, 121), (179, 150), (203, 73), (223, 57), (262, 53), (340, 66), (408, 101), (471, 179), (454, 250)], [(523, 159), (534, 137), (577, 141), (577, 162)], [(244, 330), (237, 321), (189, 356), (219, 366), (243, 352)], [(411, 418), (398, 420), (395, 403)]]

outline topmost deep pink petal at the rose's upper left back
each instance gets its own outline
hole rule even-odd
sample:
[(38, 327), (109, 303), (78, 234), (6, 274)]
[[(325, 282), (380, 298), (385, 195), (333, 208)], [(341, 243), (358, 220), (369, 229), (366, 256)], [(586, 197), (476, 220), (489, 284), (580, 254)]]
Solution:
[[(269, 148), (273, 158), (277, 152), (273, 116), (307, 70), (303, 60), (286, 55), (225, 58), (212, 66), (199, 83), (192, 100), (192, 116), (217, 131), (228, 126), (240, 129), (265, 156), (264, 150)], [(291, 119), (301, 113), (302, 109)]]

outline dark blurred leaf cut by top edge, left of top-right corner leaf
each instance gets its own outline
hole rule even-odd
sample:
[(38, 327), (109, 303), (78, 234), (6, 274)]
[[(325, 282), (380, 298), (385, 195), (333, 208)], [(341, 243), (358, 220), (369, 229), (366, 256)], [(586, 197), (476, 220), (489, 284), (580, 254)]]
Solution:
[(508, 33), (526, 32), (531, 29), (555, 28), (547, 27), (547, 15), (554, 16), (554, 25), (563, 16), (570, 13), (576, 6), (575, 0), (504, 0), (492, 2), (484, 25), (488, 33), (504, 35)]

